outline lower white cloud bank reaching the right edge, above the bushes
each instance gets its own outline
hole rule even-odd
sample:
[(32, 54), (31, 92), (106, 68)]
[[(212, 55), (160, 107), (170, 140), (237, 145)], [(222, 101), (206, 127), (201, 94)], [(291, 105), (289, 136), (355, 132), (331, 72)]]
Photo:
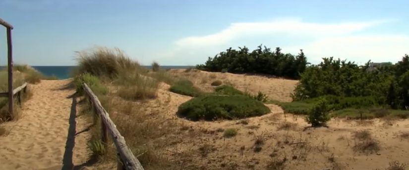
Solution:
[(304, 49), (307, 57), (314, 60), (334, 56), (356, 62), (397, 62), (409, 53), (408, 46), (407, 35), (346, 36), (283, 47), (283, 52), (295, 53)]

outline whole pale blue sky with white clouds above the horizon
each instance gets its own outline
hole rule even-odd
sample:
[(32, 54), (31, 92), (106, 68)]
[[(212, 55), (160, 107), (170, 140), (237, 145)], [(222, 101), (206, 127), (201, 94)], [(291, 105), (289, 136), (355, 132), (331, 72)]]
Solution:
[[(203, 64), (263, 44), (308, 61), (363, 64), (409, 53), (406, 0), (0, 0), (16, 64), (76, 65), (75, 51), (118, 47), (143, 65)], [(0, 65), (6, 64), (0, 27)]]

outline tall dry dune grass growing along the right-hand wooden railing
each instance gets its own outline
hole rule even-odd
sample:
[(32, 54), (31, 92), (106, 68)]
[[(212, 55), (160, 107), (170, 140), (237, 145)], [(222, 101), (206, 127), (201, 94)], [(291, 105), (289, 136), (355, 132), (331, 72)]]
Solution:
[[(79, 89), (82, 88), (82, 83), (96, 82), (94, 78), (100, 80), (99, 85), (93, 85), (92, 90), (95, 90), (94, 93), (103, 107), (111, 114), (119, 132), (124, 136), (133, 154), (138, 156), (144, 169), (176, 170), (171, 168), (169, 161), (160, 154), (165, 146), (165, 140), (161, 137), (170, 133), (173, 128), (163, 127), (160, 119), (152, 119), (142, 105), (135, 102), (156, 98), (161, 82), (172, 84), (175, 82), (174, 78), (160, 69), (156, 69), (155, 72), (149, 71), (117, 48), (95, 47), (78, 51), (76, 60), (78, 67), (74, 71), (73, 84)], [(85, 76), (88, 78), (84, 79)], [(79, 80), (81, 83), (78, 83)], [(110, 92), (101, 92), (108, 87), (111, 89)], [(100, 90), (101, 88), (104, 90)], [(88, 105), (85, 108), (89, 107)], [(83, 112), (89, 113), (89, 109), (84, 109)], [(91, 118), (93, 122), (99, 121), (97, 117)], [(100, 129), (101, 127), (94, 126), (90, 130), (92, 137), (88, 146), (101, 162), (115, 163), (117, 160), (115, 146), (109, 144), (108, 150), (100, 147)]]

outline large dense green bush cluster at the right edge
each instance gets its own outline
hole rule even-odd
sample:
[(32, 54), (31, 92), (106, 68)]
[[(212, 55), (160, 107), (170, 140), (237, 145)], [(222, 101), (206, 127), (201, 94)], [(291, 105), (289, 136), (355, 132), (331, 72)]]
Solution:
[(405, 109), (409, 103), (409, 56), (394, 65), (358, 66), (353, 62), (323, 58), (300, 74), (294, 101), (327, 96), (333, 109), (388, 106)]

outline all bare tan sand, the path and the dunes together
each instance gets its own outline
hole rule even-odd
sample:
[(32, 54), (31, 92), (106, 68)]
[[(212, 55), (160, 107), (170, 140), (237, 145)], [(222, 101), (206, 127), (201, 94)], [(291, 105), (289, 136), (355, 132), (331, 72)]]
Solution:
[[(262, 91), (280, 101), (291, 101), (290, 93), (297, 83), (227, 73), (183, 70), (173, 73), (192, 80), (203, 90), (211, 90), (212, 81), (222, 80), (240, 90)], [(25, 116), (16, 123), (7, 124), (12, 127), (10, 134), (0, 137), (0, 170), (37, 170), (61, 165), (71, 104), (71, 99), (65, 97), (73, 91), (51, 89), (63, 84), (44, 81), (31, 86), (35, 94), (24, 105)], [(191, 97), (169, 92), (168, 88), (169, 85), (163, 84), (157, 99), (139, 104), (150, 119), (159, 120), (163, 126), (177, 125), (163, 136), (167, 147), (161, 153), (179, 166), (177, 170), (191, 170), (192, 167), (195, 170), (384, 170), (391, 161), (409, 163), (406, 152), (409, 150), (408, 120), (333, 119), (329, 128), (304, 129), (308, 125), (303, 117), (284, 114), (280, 107), (269, 104), (272, 113), (244, 121), (190, 122), (177, 118), (175, 112)], [(120, 108), (112, 114), (121, 116)], [(77, 131), (86, 127), (83, 121), (77, 122)], [(236, 129), (237, 135), (223, 137), (223, 130), (227, 128)], [(360, 130), (371, 133), (370, 141), (375, 142), (379, 150), (361, 153), (356, 149), (362, 142), (353, 136)], [(87, 158), (86, 137), (84, 133), (75, 137), (74, 165)], [(373, 145), (368, 146), (373, 148)], [(284, 158), (286, 162), (280, 166)], [(116, 169), (115, 164), (97, 165), (94, 169), (101, 167)]]

